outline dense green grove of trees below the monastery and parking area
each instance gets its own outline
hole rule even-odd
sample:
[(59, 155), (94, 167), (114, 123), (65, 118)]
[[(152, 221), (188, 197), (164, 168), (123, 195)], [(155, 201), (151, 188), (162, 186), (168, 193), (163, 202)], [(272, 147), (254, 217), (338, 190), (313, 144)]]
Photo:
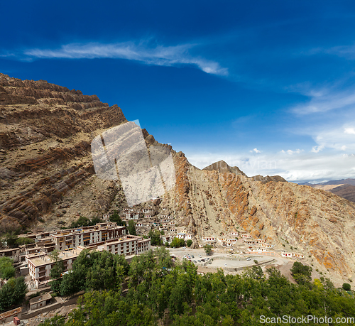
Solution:
[[(115, 264), (108, 252), (82, 253), (63, 282), (67, 277), (72, 277), (68, 283), (81, 278), (80, 284), (91, 290), (67, 321), (56, 317), (42, 325), (256, 326), (261, 315), (327, 315), (334, 320), (355, 315), (353, 296), (334, 289), (324, 278), (307, 285), (293, 284), (275, 268), (268, 268), (266, 277), (260, 266), (251, 266), (243, 275), (224, 275), (222, 269), (198, 275), (190, 261), (173, 266), (164, 247), (135, 256), (129, 266)], [(79, 271), (80, 276), (70, 276)], [(126, 275), (127, 290), (121, 295)], [(99, 276), (103, 279), (98, 280)]]

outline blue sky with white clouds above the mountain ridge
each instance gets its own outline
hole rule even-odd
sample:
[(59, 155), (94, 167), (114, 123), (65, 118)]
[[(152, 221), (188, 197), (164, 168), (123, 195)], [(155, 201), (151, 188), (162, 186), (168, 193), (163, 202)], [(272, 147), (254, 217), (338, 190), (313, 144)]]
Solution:
[(199, 168), (355, 178), (352, 1), (1, 1), (0, 72), (102, 102)]

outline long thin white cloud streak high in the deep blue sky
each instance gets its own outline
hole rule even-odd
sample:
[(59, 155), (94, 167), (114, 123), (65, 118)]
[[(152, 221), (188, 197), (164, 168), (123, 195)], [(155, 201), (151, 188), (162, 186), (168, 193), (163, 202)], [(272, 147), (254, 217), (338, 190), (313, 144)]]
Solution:
[(20, 56), (24, 60), (33, 59), (96, 59), (113, 58), (135, 60), (146, 65), (195, 65), (200, 70), (213, 75), (228, 75), (228, 69), (221, 67), (213, 60), (207, 60), (200, 55), (192, 55), (189, 50), (195, 44), (182, 44), (174, 46), (155, 45), (148, 42), (121, 42), (121, 43), (71, 43), (60, 48), (33, 48), (27, 49)]

